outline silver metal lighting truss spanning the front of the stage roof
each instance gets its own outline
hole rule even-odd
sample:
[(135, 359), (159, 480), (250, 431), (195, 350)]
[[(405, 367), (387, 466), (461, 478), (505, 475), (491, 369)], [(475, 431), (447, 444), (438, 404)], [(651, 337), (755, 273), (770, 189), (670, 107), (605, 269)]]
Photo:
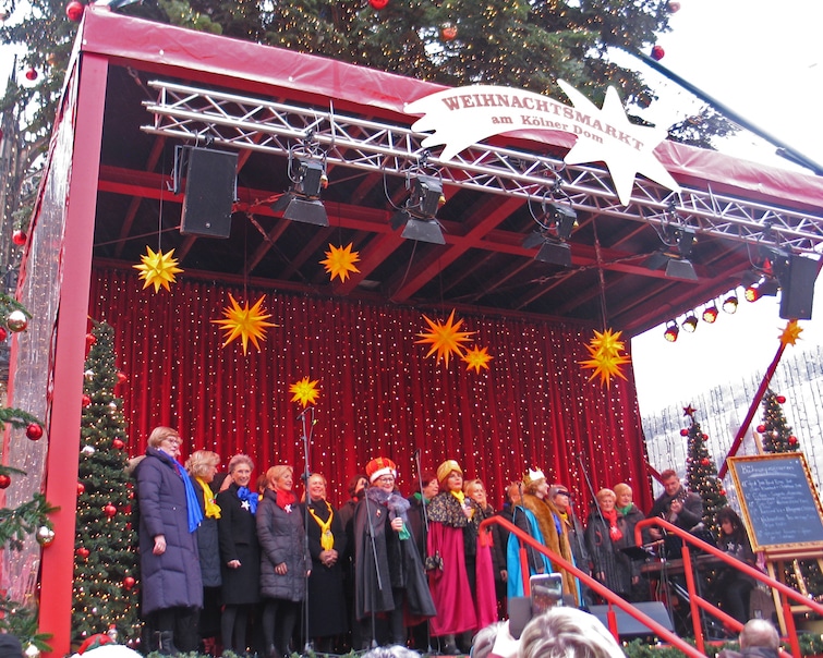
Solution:
[(238, 149), (288, 155), (295, 142), (311, 139), (326, 151), (329, 164), (404, 176), (424, 161), (444, 184), (493, 194), (542, 198), (562, 192), (577, 210), (652, 224), (677, 221), (697, 232), (745, 243), (774, 243), (795, 253), (823, 252), (823, 217), (754, 203), (711, 190), (682, 187), (675, 193), (638, 176), (628, 205), (619, 204), (608, 171), (569, 166), (536, 153), (475, 145), (440, 160), (421, 143), (427, 136), (409, 127), (322, 110), (238, 96), (213, 89), (152, 81), (157, 102), (147, 133)]

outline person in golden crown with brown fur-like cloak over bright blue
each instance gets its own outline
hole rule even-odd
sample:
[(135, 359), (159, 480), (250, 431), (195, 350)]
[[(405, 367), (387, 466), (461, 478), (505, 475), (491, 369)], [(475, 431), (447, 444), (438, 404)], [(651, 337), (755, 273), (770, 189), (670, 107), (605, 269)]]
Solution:
[[(560, 512), (548, 498), (548, 480), (540, 468), (529, 471), (523, 476), (522, 491), (515, 496), (512, 523), (529, 533), (534, 539), (543, 544), (550, 551), (573, 563), (571, 546), (566, 526), (560, 521)], [(562, 590), (571, 595), (576, 604), (580, 602), (577, 578), (571, 573), (555, 569), (548, 556), (527, 547), (529, 574), (541, 573), (562, 574)], [(520, 564), (518, 538), (509, 535), (507, 547), (508, 596), (523, 596), (523, 578)]]

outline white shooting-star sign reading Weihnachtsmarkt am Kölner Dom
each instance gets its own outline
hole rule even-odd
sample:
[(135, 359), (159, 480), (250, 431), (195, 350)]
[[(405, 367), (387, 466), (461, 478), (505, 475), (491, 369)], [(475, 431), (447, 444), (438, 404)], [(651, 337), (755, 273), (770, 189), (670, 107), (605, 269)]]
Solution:
[(564, 132), (577, 136), (566, 162), (604, 162), (622, 205), (631, 200), (638, 173), (669, 190), (680, 190), (654, 155), (654, 149), (666, 136), (665, 130), (630, 123), (614, 87), (606, 90), (601, 109), (568, 83), (558, 81), (558, 84), (573, 107), (522, 89), (474, 85), (431, 94), (409, 103), (406, 111), (423, 114), (412, 130), (434, 131), (423, 139), (422, 146), (444, 145), (440, 154), (444, 160), (501, 133), (517, 130)]

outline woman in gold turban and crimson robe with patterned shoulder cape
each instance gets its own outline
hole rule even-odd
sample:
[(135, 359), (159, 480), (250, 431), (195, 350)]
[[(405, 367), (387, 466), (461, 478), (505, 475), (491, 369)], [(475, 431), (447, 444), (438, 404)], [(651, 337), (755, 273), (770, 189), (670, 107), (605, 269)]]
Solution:
[[(447, 460), (437, 467), (437, 479), (440, 492), (427, 508), (426, 569), (437, 609), (432, 635), (441, 638), (444, 653), (457, 654), (459, 635), (463, 635), (461, 644), (470, 645), (471, 635), (497, 621), (495, 578), (489, 547), (481, 546), (470, 523), (481, 512), (463, 495), (463, 471), (455, 460)], [(468, 647), (462, 648), (468, 653)]]

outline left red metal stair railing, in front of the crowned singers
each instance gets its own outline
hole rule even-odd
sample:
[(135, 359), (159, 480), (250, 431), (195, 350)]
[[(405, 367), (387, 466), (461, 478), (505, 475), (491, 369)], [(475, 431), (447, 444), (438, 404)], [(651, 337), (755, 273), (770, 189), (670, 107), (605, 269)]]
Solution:
[(552, 565), (555, 569), (562, 569), (573, 574), (574, 577), (579, 578), (581, 583), (585, 584), (590, 589), (592, 589), (592, 592), (602, 596), (607, 601), (608, 604), (608, 613), (607, 613), (608, 630), (615, 636), (615, 639), (619, 639), (619, 638), (618, 638), (618, 632), (617, 632), (617, 616), (615, 614), (613, 606), (619, 608), (620, 610), (626, 612), (629, 617), (638, 620), (640, 623), (646, 626), (654, 635), (661, 637), (665, 642), (669, 643), (671, 646), (677, 647), (690, 658), (705, 658), (705, 651), (702, 648), (700, 649), (694, 648), (689, 643), (681, 639), (678, 635), (676, 635), (675, 633), (673, 633), (665, 626), (657, 623), (651, 617), (638, 610), (629, 601), (620, 598), (618, 595), (616, 595), (614, 592), (612, 592), (610, 589), (602, 585), (600, 582), (595, 581), (590, 575), (583, 573), (570, 562), (567, 562), (562, 558), (562, 556), (558, 556), (554, 551), (549, 550), (543, 544), (540, 544), (538, 541), (536, 541), (528, 533), (524, 533), (519, 527), (517, 527), (512, 523), (509, 523), (505, 519), (501, 519), (500, 516), (492, 516), (489, 519), (486, 519), (485, 521), (483, 521), (483, 523), (480, 524), (480, 538), (483, 545), (487, 545), (488, 533), (491, 532), (491, 526), (495, 523), (506, 528), (509, 533), (516, 535), (520, 543), (520, 564), (523, 570), (521, 577), (523, 578), (523, 594), (525, 594), (527, 596), (529, 596), (529, 560), (527, 559), (527, 555), (525, 555), (525, 546), (528, 545), (528, 546), (531, 546), (534, 550), (537, 550), (548, 556), (549, 560), (552, 560)]

